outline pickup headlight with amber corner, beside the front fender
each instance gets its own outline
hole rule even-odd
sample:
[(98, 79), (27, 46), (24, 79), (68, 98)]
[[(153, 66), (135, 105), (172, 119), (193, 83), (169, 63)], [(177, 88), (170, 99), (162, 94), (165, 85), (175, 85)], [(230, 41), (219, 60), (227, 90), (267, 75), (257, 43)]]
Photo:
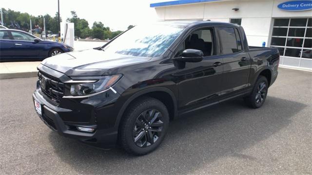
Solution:
[(75, 80), (77, 83), (69, 84), (70, 95), (88, 95), (106, 90), (113, 86), (121, 78), (121, 76), (121, 74), (102, 76), (100, 79), (92, 83), (79, 83), (77, 82), (78, 80)]

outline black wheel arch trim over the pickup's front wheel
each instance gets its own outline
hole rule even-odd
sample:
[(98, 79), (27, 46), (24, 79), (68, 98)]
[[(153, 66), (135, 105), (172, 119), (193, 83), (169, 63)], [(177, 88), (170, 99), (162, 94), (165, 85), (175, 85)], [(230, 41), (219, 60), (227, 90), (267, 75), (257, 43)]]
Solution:
[(126, 100), (126, 102), (120, 108), (120, 111), (117, 114), (117, 120), (115, 123), (115, 127), (119, 129), (119, 125), (122, 119), (122, 116), (126, 109), (138, 98), (143, 96), (149, 96), (152, 98), (156, 98), (157, 100), (161, 101), (164, 105), (166, 105), (170, 120), (174, 120), (177, 115), (177, 104), (176, 104), (176, 96), (175, 94), (168, 88), (148, 88), (144, 90), (140, 90), (137, 93), (131, 95), (130, 98)]

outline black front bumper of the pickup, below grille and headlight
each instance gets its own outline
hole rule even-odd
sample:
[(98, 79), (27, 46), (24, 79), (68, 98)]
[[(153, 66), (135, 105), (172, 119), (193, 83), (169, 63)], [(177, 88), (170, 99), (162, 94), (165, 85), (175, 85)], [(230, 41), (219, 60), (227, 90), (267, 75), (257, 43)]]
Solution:
[[(33, 93), (33, 101), (34, 100), (41, 104), (41, 115), (38, 114), (39, 118), (52, 130), (57, 131), (59, 135), (104, 148), (111, 148), (116, 145), (117, 128), (114, 127), (114, 125), (108, 126), (103, 124), (105, 122), (104, 116), (96, 121), (94, 121), (96, 117), (91, 117), (91, 121), (87, 123), (64, 121), (62, 119), (64, 114), (66, 114), (66, 117), (68, 118), (70, 114), (72, 114), (72, 117), (75, 117), (79, 112), (50, 103), (47, 97), (38, 88)], [(109, 105), (109, 107), (94, 107), (94, 109), (90, 111), (90, 114), (93, 116), (96, 114), (103, 114), (108, 108), (113, 107), (114, 105)], [(95, 131), (93, 133), (81, 132), (76, 129), (77, 126), (93, 127), (95, 128)]]

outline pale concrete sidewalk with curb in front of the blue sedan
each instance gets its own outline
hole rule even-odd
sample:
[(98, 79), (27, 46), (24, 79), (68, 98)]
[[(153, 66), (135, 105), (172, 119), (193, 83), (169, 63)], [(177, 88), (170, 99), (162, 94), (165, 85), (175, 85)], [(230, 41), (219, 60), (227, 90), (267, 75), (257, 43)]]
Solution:
[(0, 79), (36, 77), (41, 61), (0, 63)]

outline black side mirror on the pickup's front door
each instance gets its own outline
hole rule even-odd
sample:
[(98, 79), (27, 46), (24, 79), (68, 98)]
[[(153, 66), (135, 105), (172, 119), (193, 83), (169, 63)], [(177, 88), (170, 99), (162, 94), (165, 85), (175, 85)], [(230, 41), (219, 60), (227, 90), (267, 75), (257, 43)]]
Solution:
[(175, 61), (180, 61), (180, 62), (200, 62), (203, 60), (204, 53), (200, 50), (196, 49), (186, 49), (183, 51), (181, 57), (174, 58)]

